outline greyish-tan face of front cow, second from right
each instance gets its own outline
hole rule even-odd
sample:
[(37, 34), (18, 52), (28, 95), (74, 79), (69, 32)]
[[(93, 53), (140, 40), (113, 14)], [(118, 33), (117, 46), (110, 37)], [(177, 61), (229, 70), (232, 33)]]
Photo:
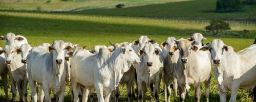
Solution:
[[(176, 41), (176, 40), (175, 40)], [(179, 56), (181, 58), (182, 63), (188, 63), (188, 56), (193, 52), (193, 50), (196, 52), (198, 47), (195, 45), (191, 45), (194, 43), (194, 41), (189, 41), (189, 40), (181, 40), (181, 41), (176, 41), (177, 43), (177, 48), (179, 49)]]

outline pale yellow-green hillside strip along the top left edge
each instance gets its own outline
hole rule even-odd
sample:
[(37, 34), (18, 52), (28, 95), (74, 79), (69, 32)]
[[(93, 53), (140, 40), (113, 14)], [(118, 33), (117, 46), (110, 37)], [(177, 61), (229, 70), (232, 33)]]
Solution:
[[(49, 2), (50, 1), (50, 2)], [(89, 9), (115, 8), (117, 4), (124, 4), (125, 8), (149, 4), (163, 4), (187, 0), (1, 0), (1, 10), (29, 10), (35, 11), (81, 11)], [(49, 2), (49, 3), (48, 3)]]

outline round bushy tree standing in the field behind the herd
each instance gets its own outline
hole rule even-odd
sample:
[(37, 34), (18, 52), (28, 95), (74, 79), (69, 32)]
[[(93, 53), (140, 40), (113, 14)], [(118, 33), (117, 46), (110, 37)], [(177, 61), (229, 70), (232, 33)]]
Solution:
[(207, 32), (214, 33), (213, 35), (217, 35), (220, 32), (230, 30), (229, 23), (221, 21), (221, 20), (211, 20), (210, 25), (205, 27)]

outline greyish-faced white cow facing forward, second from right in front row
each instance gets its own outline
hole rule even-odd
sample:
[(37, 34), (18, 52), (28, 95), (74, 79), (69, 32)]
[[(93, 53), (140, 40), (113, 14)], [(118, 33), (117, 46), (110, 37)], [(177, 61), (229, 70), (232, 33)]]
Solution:
[(191, 45), (194, 41), (176, 41), (176, 48), (179, 49), (179, 59), (175, 68), (175, 77), (178, 80), (180, 101), (185, 100), (185, 92), (190, 86), (195, 87), (194, 98), (200, 101), (201, 82), (205, 83), (206, 101), (209, 101), (209, 86), (211, 78), (211, 63), (208, 54), (197, 50), (197, 45)]

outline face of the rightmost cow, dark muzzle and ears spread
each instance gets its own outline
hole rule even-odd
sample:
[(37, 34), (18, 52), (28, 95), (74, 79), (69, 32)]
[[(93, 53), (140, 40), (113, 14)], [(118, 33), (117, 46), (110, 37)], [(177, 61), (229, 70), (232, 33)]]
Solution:
[(200, 50), (211, 49), (211, 56), (215, 64), (220, 64), (224, 52), (228, 52), (228, 46), (220, 39), (214, 39), (211, 44), (203, 46)]

